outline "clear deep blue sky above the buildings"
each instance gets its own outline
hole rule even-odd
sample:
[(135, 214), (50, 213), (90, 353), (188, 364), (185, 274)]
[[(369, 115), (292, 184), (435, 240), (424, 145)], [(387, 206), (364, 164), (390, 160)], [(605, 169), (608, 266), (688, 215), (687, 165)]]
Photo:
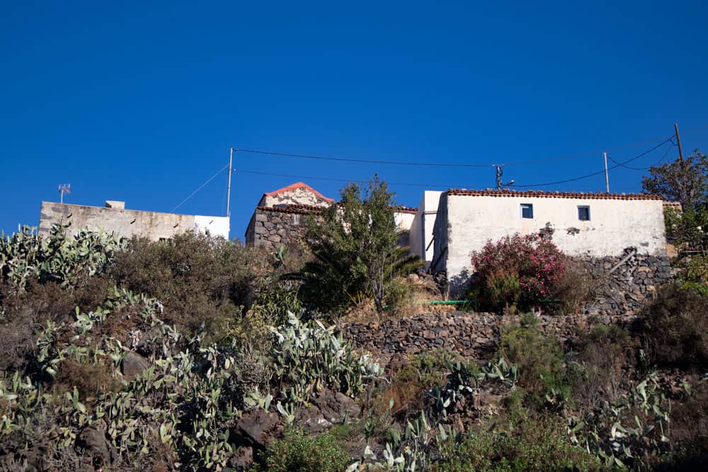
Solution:
[[(704, 2), (176, 3), (4, 2), (0, 229), (36, 226), (59, 183), (72, 184), (65, 202), (169, 212), (231, 146), (465, 164), (583, 154), (507, 167), (521, 185), (602, 171), (600, 151), (630, 159), (673, 122), (686, 153), (708, 147)], [(627, 165), (648, 167), (669, 146)], [(263, 192), (297, 180), (337, 197), (343, 181), (316, 178), (379, 173), (408, 206), (426, 186), (494, 185), (489, 167), (244, 153), (234, 167), (239, 238)], [(610, 190), (641, 190), (643, 173), (610, 171)], [(226, 183), (224, 171), (178, 212), (224, 214)], [(539, 189), (604, 185), (596, 175)]]

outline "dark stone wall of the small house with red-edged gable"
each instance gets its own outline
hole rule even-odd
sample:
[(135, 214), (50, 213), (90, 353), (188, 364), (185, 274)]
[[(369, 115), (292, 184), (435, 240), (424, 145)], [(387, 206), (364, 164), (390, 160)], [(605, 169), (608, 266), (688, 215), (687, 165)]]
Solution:
[(295, 244), (304, 236), (308, 215), (317, 210), (306, 205), (256, 207), (246, 229), (246, 244), (268, 249)]

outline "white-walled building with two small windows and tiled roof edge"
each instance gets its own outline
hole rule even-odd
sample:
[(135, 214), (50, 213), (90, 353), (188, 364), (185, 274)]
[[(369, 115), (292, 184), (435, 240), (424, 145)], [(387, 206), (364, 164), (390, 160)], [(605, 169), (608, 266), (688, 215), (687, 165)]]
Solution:
[(538, 232), (547, 224), (568, 255), (619, 255), (629, 246), (666, 255), (659, 195), (447, 190), (440, 195), (430, 270), (447, 272), (450, 293), (459, 294), (474, 272), (472, 251), (490, 239)]

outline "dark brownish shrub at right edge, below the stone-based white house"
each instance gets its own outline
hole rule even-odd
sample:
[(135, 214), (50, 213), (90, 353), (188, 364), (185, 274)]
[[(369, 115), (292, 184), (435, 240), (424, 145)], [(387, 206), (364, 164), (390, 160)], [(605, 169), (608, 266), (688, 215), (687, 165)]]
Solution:
[(649, 361), (661, 366), (708, 367), (708, 294), (663, 287), (644, 310), (641, 338)]

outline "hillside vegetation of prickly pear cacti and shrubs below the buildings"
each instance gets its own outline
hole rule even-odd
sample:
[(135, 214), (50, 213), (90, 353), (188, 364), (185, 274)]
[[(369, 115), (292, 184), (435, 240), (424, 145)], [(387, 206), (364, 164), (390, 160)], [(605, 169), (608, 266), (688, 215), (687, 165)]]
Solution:
[[(377, 259), (373, 242), (357, 258), (351, 233), (269, 253), (203, 235), (66, 230), (0, 242), (0, 470), (670, 470), (708, 459), (696, 267), (629, 328), (588, 319), (561, 343), (525, 315), (491, 362), (438, 350), (382, 365), (338, 324), (353, 311), (405, 313), (415, 264), (395, 238)], [(515, 238), (474, 255), (486, 264), (476, 303), (523, 311), (567, 294), (558, 312), (573, 309), (573, 267), (549, 241)], [(519, 265), (527, 249), (508, 245), (525, 243), (553, 264)], [(354, 269), (356, 284), (326, 280)]]

